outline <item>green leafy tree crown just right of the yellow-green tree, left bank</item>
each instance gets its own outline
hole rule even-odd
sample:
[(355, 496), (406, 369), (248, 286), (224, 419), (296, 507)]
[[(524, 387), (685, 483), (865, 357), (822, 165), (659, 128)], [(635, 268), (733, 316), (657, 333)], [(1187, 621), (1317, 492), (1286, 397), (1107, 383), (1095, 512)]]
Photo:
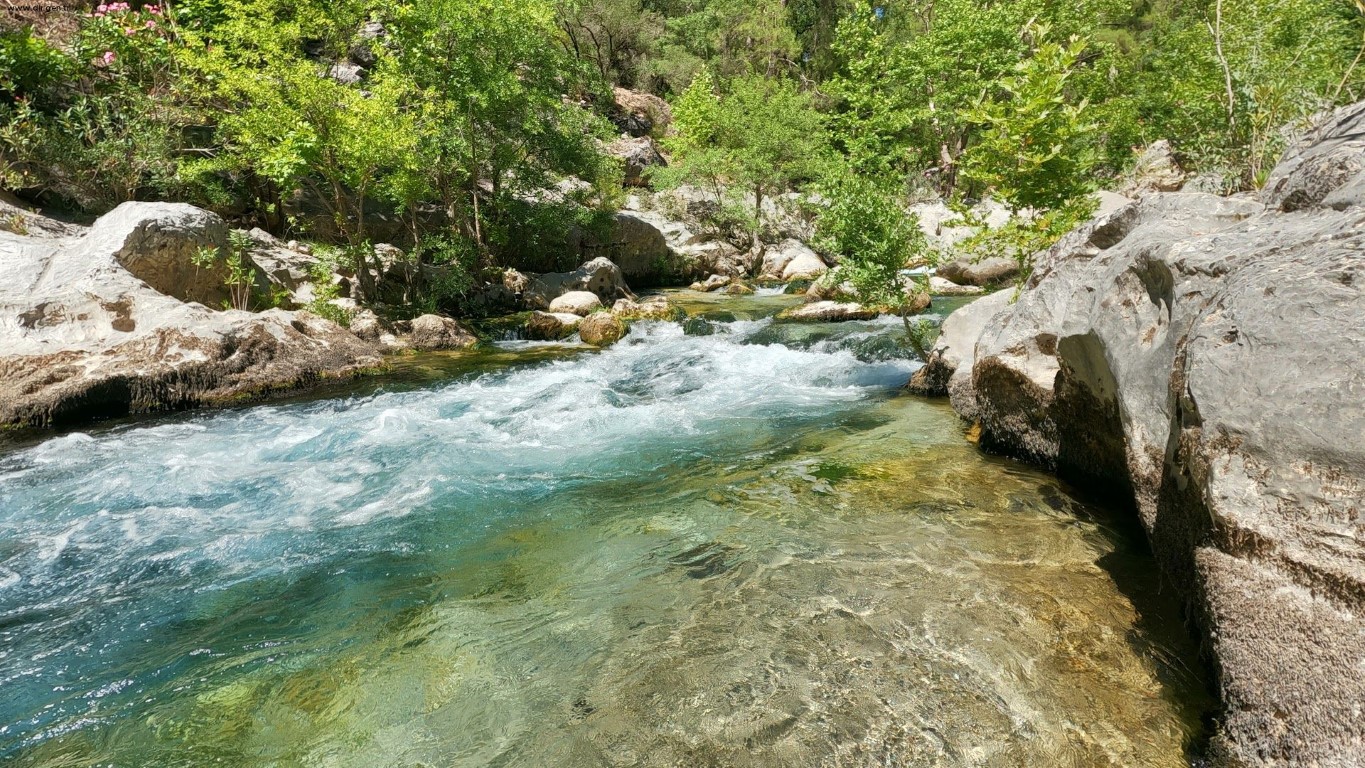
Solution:
[(478, 247), (497, 239), (490, 221), (505, 235), (515, 198), (542, 194), (564, 176), (594, 183), (599, 198), (606, 180), (618, 181), (597, 145), (606, 121), (565, 100), (607, 97), (561, 48), (547, 3), (403, 4), (394, 35), (396, 64), (412, 86), (425, 191)]

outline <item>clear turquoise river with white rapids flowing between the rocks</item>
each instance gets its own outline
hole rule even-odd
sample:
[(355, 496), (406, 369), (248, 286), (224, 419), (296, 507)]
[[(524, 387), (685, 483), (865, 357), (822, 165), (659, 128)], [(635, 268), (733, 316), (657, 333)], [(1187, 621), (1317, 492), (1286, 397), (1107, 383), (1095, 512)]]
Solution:
[(0, 763), (1189, 764), (1130, 516), (897, 396), (898, 321), (680, 296), (713, 333), (10, 438)]

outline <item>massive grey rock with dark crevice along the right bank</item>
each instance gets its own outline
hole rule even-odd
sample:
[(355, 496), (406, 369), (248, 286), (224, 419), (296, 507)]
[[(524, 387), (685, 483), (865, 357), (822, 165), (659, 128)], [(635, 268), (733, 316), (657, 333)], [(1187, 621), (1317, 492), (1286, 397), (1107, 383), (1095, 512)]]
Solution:
[(1017, 301), (949, 318), (916, 376), (951, 370), (983, 446), (1136, 507), (1215, 662), (1215, 764), (1365, 754), (1362, 135), (1365, 105), (1338, 112), (1264, 203), (1148, 194), (1093, 220)]

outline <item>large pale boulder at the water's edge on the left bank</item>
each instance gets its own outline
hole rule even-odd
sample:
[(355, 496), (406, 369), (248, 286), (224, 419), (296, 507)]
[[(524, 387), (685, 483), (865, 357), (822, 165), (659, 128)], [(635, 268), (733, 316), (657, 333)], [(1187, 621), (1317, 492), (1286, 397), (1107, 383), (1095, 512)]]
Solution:
[[(60, 228), (53, 228), (60, 231)], [(381, 364), (306, 312), (218, 311), (227, 226), (183, 205), (124, 203), (56, 237), (0, 232), (0, 426), (236, 401)]]

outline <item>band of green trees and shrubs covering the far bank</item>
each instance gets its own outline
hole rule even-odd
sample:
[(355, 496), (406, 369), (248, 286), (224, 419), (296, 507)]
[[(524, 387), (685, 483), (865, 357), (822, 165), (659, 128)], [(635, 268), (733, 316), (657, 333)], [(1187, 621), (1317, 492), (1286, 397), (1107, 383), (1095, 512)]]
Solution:
[(610, 225), (607, 119), (635, 119), (613, 85), (673, 101), (651, 128), (673, 156), (658, 181), (713, 187), (711, 216), (740, 231), (792, 188), (900, 207), (994, 194), (1028, 216), (971, 246), (1020, 258), (1088, 216), (1132, 147), (1166, 139), (1211, 190), (1254, 188), (1365, 85), (1346, 0), (71, 8), (0, 35), (5, 188), (89, 213), (188, 202), (321, 240), (362, 300), (370, 244), (401, 240), (446, 267), (407, 299), (446, 311), (472, 311), (460, 297), (497, 269), (573, 266), (557, 233)]

